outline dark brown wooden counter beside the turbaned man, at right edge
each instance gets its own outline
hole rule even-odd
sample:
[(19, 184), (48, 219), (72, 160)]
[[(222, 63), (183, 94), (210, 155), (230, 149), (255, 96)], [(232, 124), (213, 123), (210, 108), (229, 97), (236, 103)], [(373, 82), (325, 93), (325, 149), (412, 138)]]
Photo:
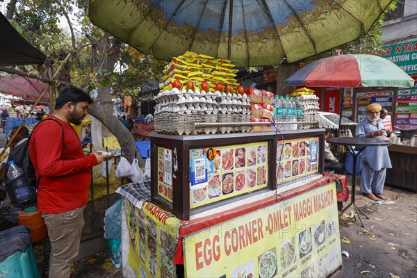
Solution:
[(385, 183), (417, 191), (417, 147), (388, 147), (392, 169), (386, 170)]

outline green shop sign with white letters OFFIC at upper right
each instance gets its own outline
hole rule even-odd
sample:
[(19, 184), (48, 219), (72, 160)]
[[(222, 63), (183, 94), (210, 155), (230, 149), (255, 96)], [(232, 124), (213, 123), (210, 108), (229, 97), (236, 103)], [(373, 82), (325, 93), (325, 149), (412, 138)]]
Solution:
[(379, 51), (378, 56), (395, 63), (407, 74), (417, 72), (417, 40), (382, 47), (382, 51)]

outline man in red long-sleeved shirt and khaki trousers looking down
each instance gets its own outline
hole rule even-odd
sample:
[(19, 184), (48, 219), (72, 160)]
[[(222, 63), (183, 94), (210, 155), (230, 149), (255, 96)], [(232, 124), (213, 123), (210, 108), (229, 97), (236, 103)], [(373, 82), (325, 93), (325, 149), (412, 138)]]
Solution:
[[(70, 277), (72, 260), (79, 253), (83, 211), (88, 202), (90, 169), (108, 156), (85, 156), (72, 124), (81, 124), (92, 99), (83, 90), (67, 86), (58, 95), (55, 111), (34, 129), (29, 156), (35, 167), (38, 211), (51, 241), (49, 277)], [(64, 133), (64, 139), (63, 139)]]

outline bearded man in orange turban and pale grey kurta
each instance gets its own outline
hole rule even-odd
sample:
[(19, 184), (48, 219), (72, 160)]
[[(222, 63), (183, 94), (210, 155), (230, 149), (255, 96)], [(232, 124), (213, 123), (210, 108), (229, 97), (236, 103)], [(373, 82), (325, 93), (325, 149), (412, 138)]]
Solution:
[[(380, 138), (386, 140), (384, 123), (379, 119), (382, 106), (370, 104), (366, 107), (367, 117), (357, 125), (356, 136)], [(386, 177), (386, 168), (391, 168), (387, 147), (366, 147), (361, 155), (361, 192), (364, 196), (377, 201), (387, 199), (382, 195)]]

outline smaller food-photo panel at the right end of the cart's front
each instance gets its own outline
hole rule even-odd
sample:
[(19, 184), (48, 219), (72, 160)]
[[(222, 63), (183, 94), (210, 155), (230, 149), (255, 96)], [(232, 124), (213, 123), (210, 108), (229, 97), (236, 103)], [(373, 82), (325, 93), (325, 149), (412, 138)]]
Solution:
[(318, 137), (277, 142), (277, 184), (318, 172)]

